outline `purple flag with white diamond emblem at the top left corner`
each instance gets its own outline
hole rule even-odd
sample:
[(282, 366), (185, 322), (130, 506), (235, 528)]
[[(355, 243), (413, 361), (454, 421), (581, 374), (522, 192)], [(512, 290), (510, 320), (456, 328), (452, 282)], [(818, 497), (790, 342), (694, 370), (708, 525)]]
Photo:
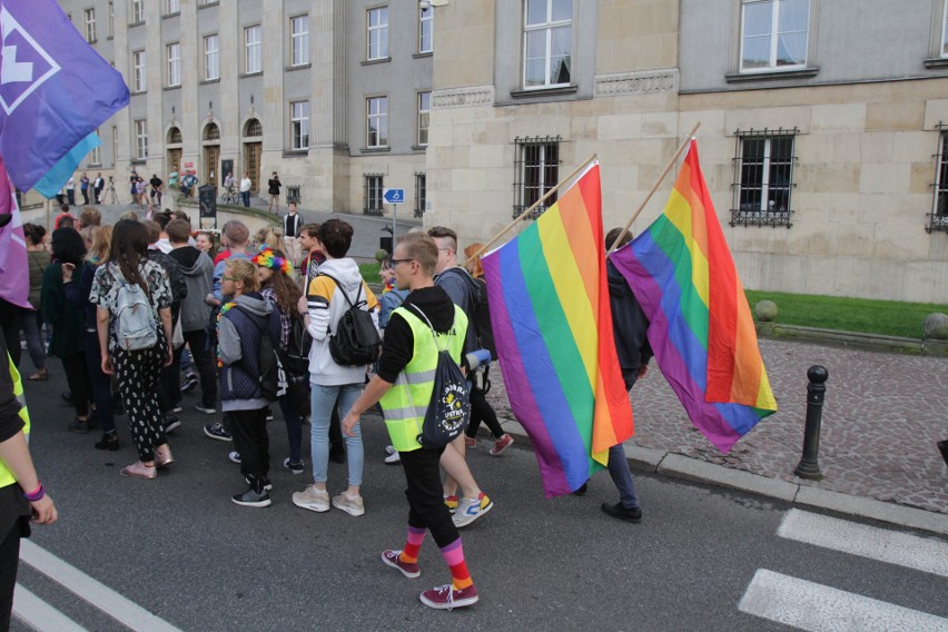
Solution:
[(58, 166), (40, 191), (52, 197), (95, 147), (89, 136), (128, 105), (128, 87), (55, 0), (0, 0), (0, 155), (22, 191)]

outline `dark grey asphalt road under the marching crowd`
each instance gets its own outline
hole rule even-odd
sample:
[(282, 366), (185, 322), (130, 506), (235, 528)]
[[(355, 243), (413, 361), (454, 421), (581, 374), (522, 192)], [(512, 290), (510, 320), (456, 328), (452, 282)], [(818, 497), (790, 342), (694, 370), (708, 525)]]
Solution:
[[(185, 397), (170, 471), (157, 481), (124, 478), (119, 470), (136, 460), (126, 418), (119, 417), (118, 453), (93, 450), (97, 434), (67, 433), (72, 412), (59, 399), (61, 365), (53, 359), (50, 368), (52, 379), (29, 383), (27, 397), (31, 450), (61, 519), (36, 529), (31, 541), (180, 630), (816, 629), (742, 612), (761, 569), (935, 615), (929, 623), (944, 628), (920, 629), (948, 630), (946, 574), (781, 537), (784, 503), (639, 475), (644, 520), (631, 525), (600, 512), (601, 503), (616, 500), (606, 473), (584, 497), (547, 500), (531, 452), (514, 446), (493, 458), (487, 441), (470, 463), (495, 506), (462, 531), (481, 602), (432, 611), (418, 593), (450, 574), (429, 537), (416, 580), (379, 561), (381, 551), (404, 543), (407, 504), (401, 467), (382, 462), (387, 442), (377, 417), (363, 423), (364, 516), (293, 506), (290, 494), (309, 476), (282, 467), (287, 444), (279, 415), (269, 425), (274, 504), (246, 508), (230, 502), (244, 488), (227, 460), (230, 444), (204, 436), (200, 426), (211, 417), (192, 409), (195, 394)], [(308, 466), (308, 447), (304, 454)], [(330, 493), (344, 486), (345, 466), (330, 464)], [(870, 531), (870, 542), (901, 533)], [(916, 544), (936, 546), (935, 556), (948, 551), (948, 541), (926, 534), (895, 549)], [(21, 564), (20, 583), (85, 629), (128, 629), (76, 596), (88, 580), (66, 589)], [(850, 621), (837, 612), (840, 623)]]

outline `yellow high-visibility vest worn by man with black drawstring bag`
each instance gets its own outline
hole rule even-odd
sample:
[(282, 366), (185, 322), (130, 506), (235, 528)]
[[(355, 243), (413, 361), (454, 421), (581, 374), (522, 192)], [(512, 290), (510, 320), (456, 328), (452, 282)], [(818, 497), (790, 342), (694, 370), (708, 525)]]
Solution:
[(382, 412), (385, 414), (385, 426), (393, 447), (398, 452), (412, 452), (422, 447), (418, 436), (422, 434), (425, 413), (434, 392), (438, 345), (444, 347), (448, 344), (452, 359), (460, 363), (461, 349), (464, 348), (464, 338), (467, 335), (467, 316), (455, 305), (451, 332), (437, 334), (435, 343), (428, 325), (412, 309), (398, 307), (392, 314), (401, 314), (412, 327), (414, 349), (412, 359), (398, 374), (395, 385), (382, 397)]

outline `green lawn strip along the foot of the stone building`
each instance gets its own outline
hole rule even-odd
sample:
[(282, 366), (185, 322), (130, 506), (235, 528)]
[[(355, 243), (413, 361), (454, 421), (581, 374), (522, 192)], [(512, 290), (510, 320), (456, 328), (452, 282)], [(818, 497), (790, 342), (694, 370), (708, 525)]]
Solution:
[(932, 312), (948, 314), (948, 305), (932, 303), (839, 298), (753, 289), (747, 290), (747, 296), (751, 312), (759, 300), (774, 302), (779, 310), (776, 322), (783, 325), (907, 338), (921, 337), (921, 324)]

